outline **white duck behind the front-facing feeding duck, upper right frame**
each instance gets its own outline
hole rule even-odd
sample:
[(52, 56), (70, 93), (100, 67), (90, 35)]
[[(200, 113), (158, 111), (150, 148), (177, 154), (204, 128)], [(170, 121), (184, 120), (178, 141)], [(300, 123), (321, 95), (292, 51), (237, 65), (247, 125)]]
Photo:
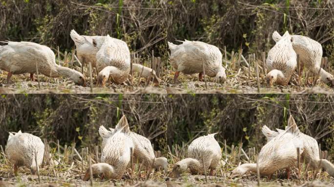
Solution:
[[(275, 42), (278, 42), (282, 37), (277, 31), (275, 31), (272, 33), (272, 38)], [(314, 75), (317, 75), (319, 73), (319, 69), (321, 68), (321, 44), (309, 37), (292, 35), (292, 47), (300, 57), (300, 67), (302, 68), (305, 64), (307, 69), (309, 69)], [(333, 75), (326, 72), (322, 68), (320, 70), (320, 77), (322, 81), (334, 85)]]

